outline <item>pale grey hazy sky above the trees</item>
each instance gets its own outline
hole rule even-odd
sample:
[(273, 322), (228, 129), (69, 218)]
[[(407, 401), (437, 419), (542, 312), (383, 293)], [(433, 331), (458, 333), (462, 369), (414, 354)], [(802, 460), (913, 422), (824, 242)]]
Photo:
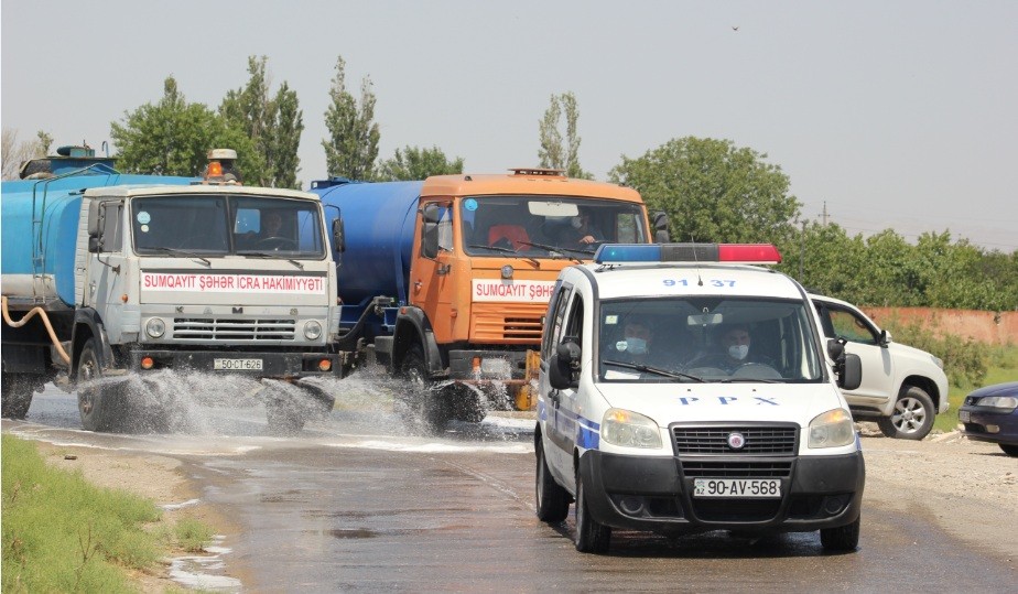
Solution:
[(342, 55), (355, 96), (373, 83), (382, 158), (535, 165), (550, 96), (573, 91), (598, 179), (673, 138), (728, 139), (782, 168), (804, 218), (826, 203), (852, 235), (1018, 249), (1016, 1), (3, 0), (0, 22), (0, 119), (22, 140), (98, 148), (169, 75), (216, 108), (266, 55), (301, 101), (306, 187)]

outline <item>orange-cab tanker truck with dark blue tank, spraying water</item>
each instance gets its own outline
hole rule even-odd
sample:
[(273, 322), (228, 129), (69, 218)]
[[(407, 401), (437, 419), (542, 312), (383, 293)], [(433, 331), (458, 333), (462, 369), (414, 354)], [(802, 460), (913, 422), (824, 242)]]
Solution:
[[(432, 430), (531, 409), (559, 271), (603, 241), (652, 238), (632, 188), (510, 171), (312, 183), (335, 231), (337, 350), (413, 384), (400, 404)], [(667, 228), (663, 215), (654, 226)]]

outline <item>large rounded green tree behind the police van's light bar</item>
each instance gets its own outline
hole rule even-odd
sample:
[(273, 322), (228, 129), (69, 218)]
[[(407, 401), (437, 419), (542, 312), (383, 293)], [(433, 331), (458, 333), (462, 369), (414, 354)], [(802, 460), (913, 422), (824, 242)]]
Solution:
[(800, 203), (766, 158), (730, 140), (685, 137), (637, 159), (624, 155), (609, 179), (667, 212), (675, 240), (781, 244), (795, 235)]

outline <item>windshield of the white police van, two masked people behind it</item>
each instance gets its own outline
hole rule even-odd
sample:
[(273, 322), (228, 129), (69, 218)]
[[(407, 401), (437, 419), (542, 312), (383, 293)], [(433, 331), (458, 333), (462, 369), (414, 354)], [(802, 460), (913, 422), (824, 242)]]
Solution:
[(809, 316), (809, 309), (798, 301), (605, 301), (598, 320), (598, 379), (822, 381)]

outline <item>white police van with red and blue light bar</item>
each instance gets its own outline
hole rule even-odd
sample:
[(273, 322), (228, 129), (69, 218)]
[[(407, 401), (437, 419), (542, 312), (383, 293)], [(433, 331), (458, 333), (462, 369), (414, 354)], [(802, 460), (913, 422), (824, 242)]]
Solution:
[(838, 385), (858, 386), (859, 359), (822, 341), (798, 282), (746, 266), (777, 261), (769, 245), (605, 245), (559, 276), (537, 512), (560, 522), (575, 501), (577, 550), (606, 551), (613, 528), (858, 546), (865, 466)]

